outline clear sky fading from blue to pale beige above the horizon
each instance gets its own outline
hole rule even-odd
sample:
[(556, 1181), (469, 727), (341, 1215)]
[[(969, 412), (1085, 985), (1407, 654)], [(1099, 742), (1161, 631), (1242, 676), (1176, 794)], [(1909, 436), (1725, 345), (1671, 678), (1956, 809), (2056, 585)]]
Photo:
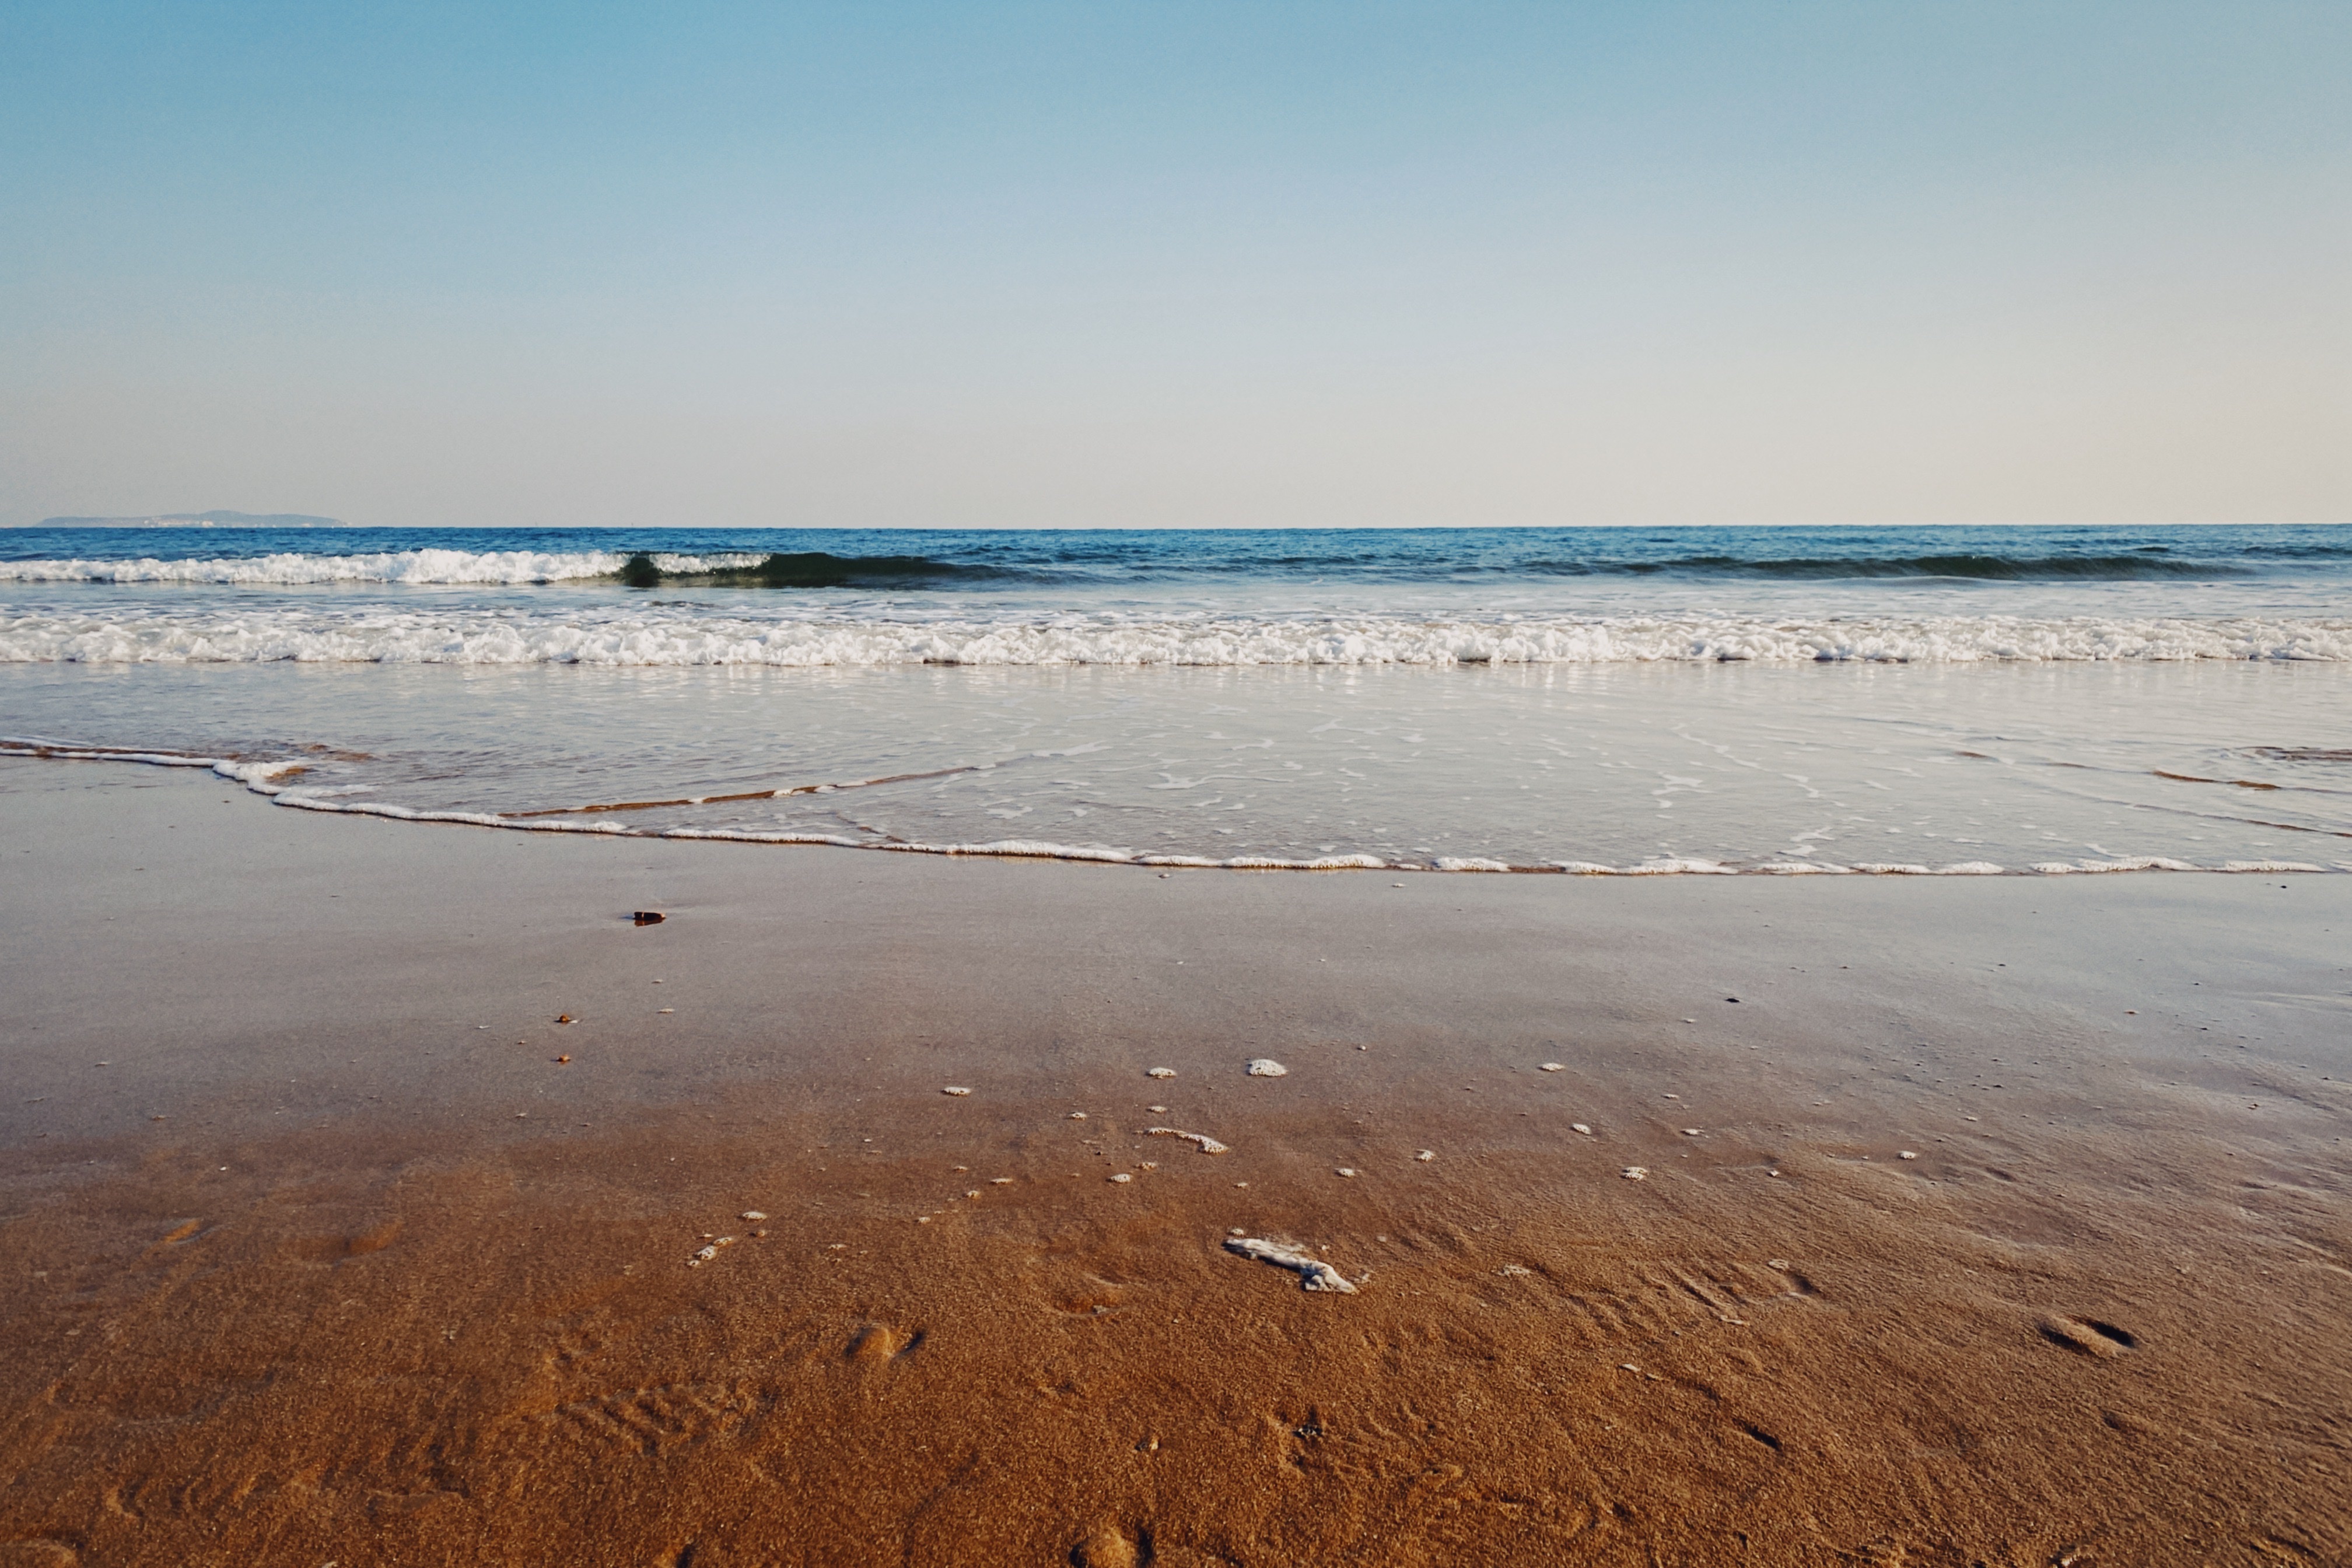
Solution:
[(2347, 522), (2347, 80), (2343, 0), (0, 0), (0, 522)]

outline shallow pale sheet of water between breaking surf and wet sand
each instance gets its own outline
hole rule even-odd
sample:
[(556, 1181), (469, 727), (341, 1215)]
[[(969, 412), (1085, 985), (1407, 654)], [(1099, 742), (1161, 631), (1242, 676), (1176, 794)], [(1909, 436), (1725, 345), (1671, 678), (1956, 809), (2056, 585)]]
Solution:
[(2352, 668), (14, 665), (285, 804), (1435, 870), (2352, 867)]

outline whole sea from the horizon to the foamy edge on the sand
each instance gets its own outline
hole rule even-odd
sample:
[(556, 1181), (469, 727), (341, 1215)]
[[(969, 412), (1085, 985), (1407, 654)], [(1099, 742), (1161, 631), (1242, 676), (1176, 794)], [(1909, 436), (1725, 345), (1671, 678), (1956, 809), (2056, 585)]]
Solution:
[(2352, 527), (9, 529), (0, 752), (746, 846), (2343, 872)]

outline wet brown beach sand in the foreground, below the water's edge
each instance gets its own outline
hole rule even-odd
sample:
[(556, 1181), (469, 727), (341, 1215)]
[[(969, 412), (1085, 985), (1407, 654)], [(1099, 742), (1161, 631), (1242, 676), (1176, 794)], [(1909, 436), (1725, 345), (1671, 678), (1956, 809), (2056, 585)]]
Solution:
[(0, 1563), (2352, 1561), (2345, 877), (0, 820)]

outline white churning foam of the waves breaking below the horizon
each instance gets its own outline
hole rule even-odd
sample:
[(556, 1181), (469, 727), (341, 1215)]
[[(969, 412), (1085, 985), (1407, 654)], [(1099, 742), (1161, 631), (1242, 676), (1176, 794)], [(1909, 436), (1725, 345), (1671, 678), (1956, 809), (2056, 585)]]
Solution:
[[(275, 562), (275, 564), (273, 564)], [(0, 562), (0, 581), (108, 583), (562, 583), (621, 557), (409, 550), (249, 562)], [(691, 562), (694, 564), (713, 562)], [(66, 569), (87, 571), (68, 578)], [(153, 569), (158, 576), (141, 578)], [(42, 576), (52, 571), (52, 576)], [(198, 576), (216, 571), (219, 576)], [(303, 571), (313, 576), (301, 576)], [(270, 576), (278, 574), (278, 576)], [(790, 590), (647, 602), (42, 604), (0, 616), (0, 663), (449, 663), (449, 665), (1588, 665), (1588, 663), (2077, 663), (2352, 661), (2352, 621), (2253, 618), (920, 618), (842, 616)]]

